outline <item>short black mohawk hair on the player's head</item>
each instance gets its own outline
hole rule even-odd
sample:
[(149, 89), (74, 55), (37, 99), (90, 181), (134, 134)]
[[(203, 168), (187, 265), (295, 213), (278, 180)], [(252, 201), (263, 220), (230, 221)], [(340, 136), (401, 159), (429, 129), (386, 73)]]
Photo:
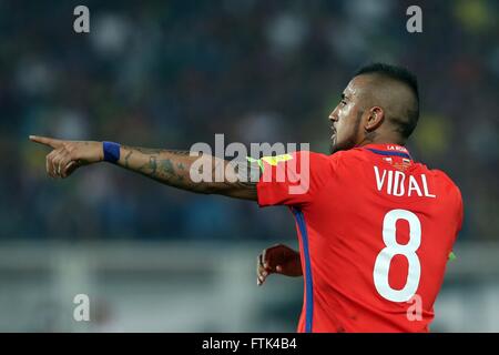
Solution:
[(411, 90), (416, 99), (415, 106), (407, 109), (406, 120), (396, 120), (397, 124), (399, 125), (398, 131), (404, 135), (404, 138), (409, 138), (409, 135), (415, 130), (419, 119), (419, 90), (416, 75), (404, 67), (386, 63), (370, 63), (364, 65), (359, 70), (357, 70), (354, 77), (360, 74), (379, 74), (380, 77), (401, 82)]

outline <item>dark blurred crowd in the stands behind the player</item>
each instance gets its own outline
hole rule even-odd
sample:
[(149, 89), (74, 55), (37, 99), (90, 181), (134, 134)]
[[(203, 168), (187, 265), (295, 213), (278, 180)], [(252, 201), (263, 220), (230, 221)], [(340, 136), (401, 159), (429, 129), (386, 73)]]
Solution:
[[(422, 33), (408, 33), (419, 3)], [(29, 134), (190, 149), (310, 142), (370, 61), (417, 73), (416, 160), (461, 187), (460, 239), (499, 239), (499, 3), (0, 0), (0, 239), (293, 239), (285, 207), (176, 191), (103, 163), (45, 175)]]

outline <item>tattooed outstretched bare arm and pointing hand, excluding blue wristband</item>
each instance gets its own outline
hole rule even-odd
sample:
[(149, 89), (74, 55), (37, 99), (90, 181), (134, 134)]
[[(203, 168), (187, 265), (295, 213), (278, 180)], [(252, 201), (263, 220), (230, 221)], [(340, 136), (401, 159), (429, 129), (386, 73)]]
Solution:
[[(30, 135), (30, 140), (53, 149), (47, 155), (47, 172), (52, 178), (68, 178), (80, 166), (104, 161), (102, 142), (63, 141), (35, 135)], [(256, 200), (257, 166), (235, 165), (220, 158), (191, 154), (189, 151), (121, 145), (116, 165), (163, 184), (196, 193)], [(211, 170), (206, 175), (212, 179), (193, 179), (206, 173), (203, 169)], [(215, 179), (216, 175), (223, 179)]]

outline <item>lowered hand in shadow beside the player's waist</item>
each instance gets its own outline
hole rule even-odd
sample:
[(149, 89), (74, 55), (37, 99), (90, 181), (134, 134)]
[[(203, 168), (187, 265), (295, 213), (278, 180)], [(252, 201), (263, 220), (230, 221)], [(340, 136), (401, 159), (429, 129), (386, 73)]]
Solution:
[(271, 274), (302, 276), (299, 253), (284, 244), (265, 248), (256, 260), (256, 284), (263, 285)]

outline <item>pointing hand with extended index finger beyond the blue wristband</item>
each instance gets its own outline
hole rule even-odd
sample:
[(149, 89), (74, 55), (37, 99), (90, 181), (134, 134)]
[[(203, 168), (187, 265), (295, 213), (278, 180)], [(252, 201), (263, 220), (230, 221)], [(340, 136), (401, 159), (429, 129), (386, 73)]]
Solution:
[(52, 178), (68, 178), (78, 168), (104, 159), (101, 142), (62, 141), (47, 136), (30, 135), (30, 141), (53, 150), (47, 155), (47, 173)]

